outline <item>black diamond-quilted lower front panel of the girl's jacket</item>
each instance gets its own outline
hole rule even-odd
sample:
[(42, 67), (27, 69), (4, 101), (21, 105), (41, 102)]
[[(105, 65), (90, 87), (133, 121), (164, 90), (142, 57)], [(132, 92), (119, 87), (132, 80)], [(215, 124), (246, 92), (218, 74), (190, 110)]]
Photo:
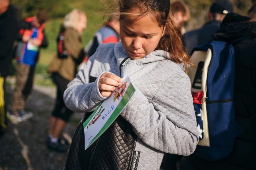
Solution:
[(91, 169), (128, 170), (130, 157), (135, 148), (135, 137), (130, 124), (119, 116), (101, 136)]

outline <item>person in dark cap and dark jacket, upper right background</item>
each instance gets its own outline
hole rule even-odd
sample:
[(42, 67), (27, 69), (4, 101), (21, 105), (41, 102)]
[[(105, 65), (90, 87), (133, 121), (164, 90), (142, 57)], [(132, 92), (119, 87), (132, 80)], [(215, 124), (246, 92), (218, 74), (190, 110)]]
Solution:
[(212, 35), (220, 28), (220, 23), (226, 14), (233, 12), (233, 5), (229, 0), (216, 0), (210, 7), (208, 12), (208, 22), (203, 28), (189, 31), (183, 36), (183, 44), (188, 54), (194, 47), (210, 42)]

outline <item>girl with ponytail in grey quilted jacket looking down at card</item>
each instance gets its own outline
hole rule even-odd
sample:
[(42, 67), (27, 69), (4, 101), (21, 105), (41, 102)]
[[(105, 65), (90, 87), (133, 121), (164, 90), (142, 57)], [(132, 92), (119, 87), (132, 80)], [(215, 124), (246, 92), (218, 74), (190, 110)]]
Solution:
[(87, 150), (78, 125), (65, 170), (159, 170), (164, 152), (190, 155), (199, 140), (191, 83), (180, 66), (187, 68), (188, 57), (169, 16), (170, 0), (120, 0), (119, 5), (121, 42), (98, 47), (68, 84), (64, 101), (89, 114), (124, 76), (136, 91)]

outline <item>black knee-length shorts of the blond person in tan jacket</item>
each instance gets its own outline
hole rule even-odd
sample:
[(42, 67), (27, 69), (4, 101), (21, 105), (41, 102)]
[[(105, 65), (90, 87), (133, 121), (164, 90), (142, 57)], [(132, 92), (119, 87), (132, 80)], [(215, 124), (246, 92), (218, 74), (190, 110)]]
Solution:
[(53, 81), (57, 85), (57, 98), (52, 112), (52, 116), (68, 122), (73, 111), (66, 107), (63, 99), (63, 94), (67, 88), (69, 81), (61, 77), (58, 73), (53, 73)]

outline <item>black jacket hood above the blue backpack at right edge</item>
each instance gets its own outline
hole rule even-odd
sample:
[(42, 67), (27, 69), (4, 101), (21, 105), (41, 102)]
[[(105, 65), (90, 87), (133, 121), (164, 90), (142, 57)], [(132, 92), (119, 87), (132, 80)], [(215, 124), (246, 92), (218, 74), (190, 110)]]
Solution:
[(238, 38), (256, 36), (256, 21), (239, 14), (227, 14), (220, 25), (220, 30), (213, 34), (213, 39), (231, 43)]

